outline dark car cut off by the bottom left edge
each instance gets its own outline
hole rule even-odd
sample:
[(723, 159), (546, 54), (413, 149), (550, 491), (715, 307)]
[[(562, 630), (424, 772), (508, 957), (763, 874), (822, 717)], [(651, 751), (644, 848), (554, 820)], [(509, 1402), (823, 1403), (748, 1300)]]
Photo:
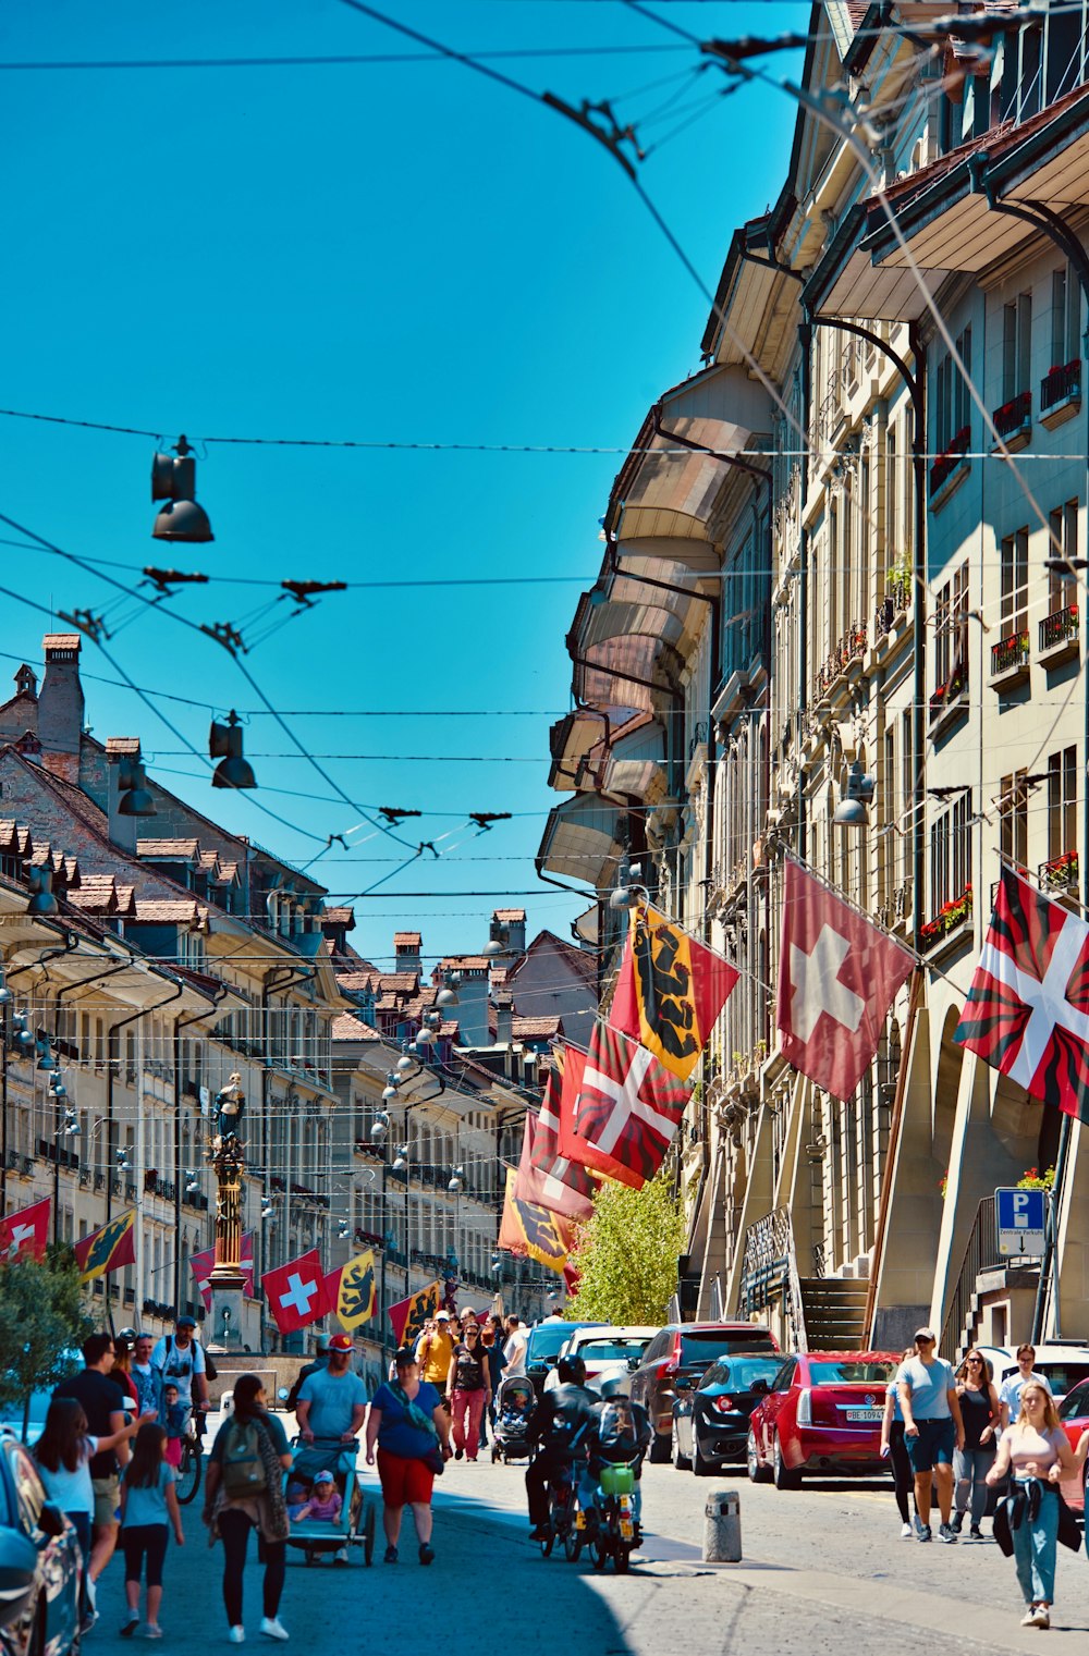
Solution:
[(80, 1643), (80, 1543), (35, 1464), (0, 1441), (0, 1656), (66, 1656)]

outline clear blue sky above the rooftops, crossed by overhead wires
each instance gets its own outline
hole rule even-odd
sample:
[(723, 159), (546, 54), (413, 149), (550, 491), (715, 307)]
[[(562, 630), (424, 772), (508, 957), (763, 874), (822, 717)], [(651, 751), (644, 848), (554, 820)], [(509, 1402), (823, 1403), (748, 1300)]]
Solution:
[[(570, 103), (615, 99), (645, 146), (724, 84), (716, 70), (686, 79), (698, 53), (613, 0), (385, 10), (462, 51), (608, 46), (489, 61)], [(701, 38), (807, 17), (759, 0), (658, 10)], [(618, 50), (633, 46), (655, 51)], [(544, 104), (444, 61), (7, 68), (416, 50), (336, 0), (194, 0), (182, 13), (124, 0), (7, 7), (0, 402), (166, 442), (182, 431), (632, 442), (660, 391), (699, 366), (708, 306), (615, 161)], [(787, 99), (744, 88), (641, 167), (709, 286), (733, 227), (779, 192), (792, 119)], [(201, 752), (212, 712), (244, 712), (262, 787), (212, 793), (207, 768), (148, 704), (91, 677), (116, 672), (86, 643), (96, 735), (141, 735), (166, 785), (292, 861), (345, 835), (348, 850), (335, 843), (312, 871), (346, 896), (393, 874), (355, 903), (353, 941), (378, 962), (401, 927), (423, 931), (428, 956), (474, 951), (496, 906), (525, 906), (530, 934), (567, 936), (585, 904), (540, 888), (532, 858), (555, 802), (547, 730), (569, 707), (564, 634), (598, 568), (598, 517), (622, 455), (209, 444), (197, 493), (215, 542), (169, 546), (151, 540), (149, 437), (0, 419), (0, 512), (118, 565), (104, 573), (124, 591), (8, 545), (0, 583), (46, 609), (104, 613), (106, 649), (136, 684), (201, 704), (152, 696)], [(5, 525), (0, 535), (18, 538)], [(128, 596), (149, 563), (212, 580), (152, 611)], [(530, 576), (549, 581), (502, 585)], [(262, 619), (277, 588), (240, 583), (300, 578), (416, 585), (330, 595), (257, 643), (290, 606)], [(50, 619), (10, 598), (0, 616), (2, 679), (18, 664), (5, 657), (40, 659)], [(312, 753), (351, 755), (320, 760), (351, 805), (290, 757), (201, 623), (240, 628), (247, 671)], [(356, 805), (426, 815), (403, 830), (404, 850), (356, 831)], [(469, 811), (514, 818), (472, 836)], [(394, 873), (421, 840), (443, 856)]]

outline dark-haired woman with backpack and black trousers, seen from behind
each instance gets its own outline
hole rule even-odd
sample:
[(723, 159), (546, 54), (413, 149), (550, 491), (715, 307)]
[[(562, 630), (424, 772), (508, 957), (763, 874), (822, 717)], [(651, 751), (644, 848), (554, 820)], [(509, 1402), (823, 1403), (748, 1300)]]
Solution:
[(232, 1644), (245, 1643), (242, 1623), (242, 1570), (250, 1530), (257, 1530), (265, 1560), (264, 1616), (260, 1631), (285, 1639), (277, 1611), (283, 1591), (288, 1537), (283, 1502), (283, 1469), (292, 1464), (287, 1436), (269, 1414), (259, 1374), (240, 1374), (234, 1388), (234, 1413), (215, 1432), (204, 1484), (204, 1522), (224, 1543), (224, 1605)]

